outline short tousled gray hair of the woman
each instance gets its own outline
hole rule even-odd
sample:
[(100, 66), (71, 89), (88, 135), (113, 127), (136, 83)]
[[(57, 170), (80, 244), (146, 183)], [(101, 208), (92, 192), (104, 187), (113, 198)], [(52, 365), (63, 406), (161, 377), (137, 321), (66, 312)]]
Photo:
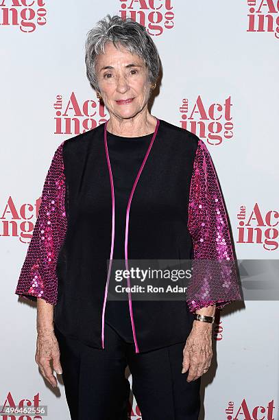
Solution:
[(114, 47), (119, 47), (117, 45), (119, 43), (131, 54), (143, 58), (148, 69), (149, 82), (151, 84), (156, 82), (160, 71), (160, 58), (156, 45), (145, 27), (131, 18), (123, 20), (120, 16), (107, 14), (104, 19), (97, 22), (96, 27), (88, 31), (86, 38), (86, 75), (93, 89), (99, 90), (95, 59), (98, 54), (105, 52), (104, 47), (109, 41)]

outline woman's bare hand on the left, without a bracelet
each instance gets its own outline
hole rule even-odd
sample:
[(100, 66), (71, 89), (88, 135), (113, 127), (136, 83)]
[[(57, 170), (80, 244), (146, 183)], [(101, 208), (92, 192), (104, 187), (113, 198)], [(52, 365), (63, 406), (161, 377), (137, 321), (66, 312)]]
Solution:
[(56, 373), (61, 374), (60, 350), (54, 331), (40, 331), (37, 335), (35, 361), (39, 366), (40, 373), (55, 388), (58, 383), (56, 377), (53, 375), (50, 364), (51, 360), (53, 362), (53, 369)]

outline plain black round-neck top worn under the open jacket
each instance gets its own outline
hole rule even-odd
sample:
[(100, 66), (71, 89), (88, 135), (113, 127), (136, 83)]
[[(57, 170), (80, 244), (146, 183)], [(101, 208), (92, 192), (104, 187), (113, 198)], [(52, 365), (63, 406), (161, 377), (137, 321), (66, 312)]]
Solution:
[[(112, 259), (123, 259), (123, 269), (125, 269), (125, 218), (128, 200), (152, 136), (153, 133), (141, 137), (122, 137), (107, 131), (108, 153), (114, 185), (115, 220)], [(120, 266), (117, 265), (117, 268)], [(123, 283), (123, 286), (127, 286), (127, 284)], [(105, 323), (114, 328), (126, 342), (134, 342), (128, 295), (126, 301), (108, 299)]]

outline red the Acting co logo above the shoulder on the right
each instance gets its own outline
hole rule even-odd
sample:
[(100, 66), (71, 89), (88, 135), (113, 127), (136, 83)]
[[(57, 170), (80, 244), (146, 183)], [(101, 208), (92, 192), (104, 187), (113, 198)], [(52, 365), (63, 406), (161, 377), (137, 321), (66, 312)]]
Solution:
[(230, 140), (234, 135), (231, 108), (230, 96), (221, 103), (213, 102), (207, 107), (200, 95), (193, 104), (184, 99), (179, 108), (180, 125), (206, 143), (219, 145), (224, 139)]

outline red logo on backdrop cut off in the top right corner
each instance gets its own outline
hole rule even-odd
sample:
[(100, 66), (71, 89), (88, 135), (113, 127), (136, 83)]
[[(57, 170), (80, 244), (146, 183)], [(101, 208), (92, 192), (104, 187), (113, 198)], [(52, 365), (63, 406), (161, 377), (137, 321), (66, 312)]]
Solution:
[(279, 1), (261, 0), (258, 3), (256, 0), (247, 0), (247, 32), (272, 32), (279, 39)]

